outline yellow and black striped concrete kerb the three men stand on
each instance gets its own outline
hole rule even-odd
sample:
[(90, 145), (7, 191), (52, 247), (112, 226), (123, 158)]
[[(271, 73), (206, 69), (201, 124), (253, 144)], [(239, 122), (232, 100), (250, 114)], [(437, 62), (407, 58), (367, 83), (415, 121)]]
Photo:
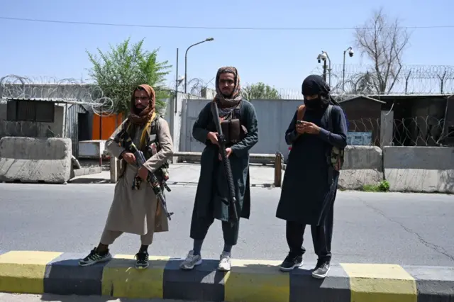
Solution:
[(150, 257), (148, 269), (135, 269), (133, 255), (79, 267), (85, 255), (62, 252), (0, 253), (0, 292), (57, 293), (114, 298), (189, 301), (453, 301), (454, 268), (397, 264), (332, 264), (328, 277), (308, 269), (280, 272), (279, 262), (232, 259), (230, 272), (218, 272), (208, 259), (182, 271), (182, 259)]

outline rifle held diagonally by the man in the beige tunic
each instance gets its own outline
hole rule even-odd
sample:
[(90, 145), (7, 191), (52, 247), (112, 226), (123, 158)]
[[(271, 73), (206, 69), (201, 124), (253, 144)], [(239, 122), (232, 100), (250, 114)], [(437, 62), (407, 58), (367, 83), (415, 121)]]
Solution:
[[(128, 134), (126, 133), (126, 135)], [(126, 141), (128, 142), (128, 149), (134, 154), (136, 166), (140, 169), (146, 162), (145, 156), (143, 155), (142, 151), (138, 150), (138, 148), (135, 147), (135, 144), (130, 137), (127, 137)], [(142, 179), (140, 179), (140, 177), (135, 177), (133, 181), (133, 190), (138, 189), (138, 185), (140, 185), (141, 182)], [(160, 181), (157, 179), (154, 173), (148, 172), (147, 182), (153, 188), (153, 192), (155, 192), (157, 199), (160, 201), (162, 208), (165, 211), (165, 215), (167, 216), (167, 218), (169, 218), (169, 220), (172, 220), (170, 216), (173, 215), (173, 212), (169, 213), (169, 211), (167, 211), (167, 202), (165, 201), (164, 194), (162, 194)], [(165, 184), (165, 182), (163, 186), (167, 189), (167, 191), (170, 191), (170, 188)]]

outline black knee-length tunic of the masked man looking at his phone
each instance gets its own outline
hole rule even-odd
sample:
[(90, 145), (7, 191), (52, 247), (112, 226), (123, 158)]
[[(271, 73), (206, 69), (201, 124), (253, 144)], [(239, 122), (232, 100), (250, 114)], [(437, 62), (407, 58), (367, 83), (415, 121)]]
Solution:
[[(323, 117), (326, 108), (306, 110), (303, 121), (318, 125), (319, 134), (304, 133), (297, 137), (297, 111), (285, 133), (285, 140), (292, 145), (282, 182), (282, 191), (276, 217), (306, 225), (319, 225), (324, 219), (323, 208), (333, 200), (337, 177), (328, 179), (327, 151), (331, 146), (347, 145), (347, 125), (341, 107), (333, 106), (331, 118), (333, 132), (328, 132), (328, 120)], [(331, 184), (330, 184), (331, 182)]]

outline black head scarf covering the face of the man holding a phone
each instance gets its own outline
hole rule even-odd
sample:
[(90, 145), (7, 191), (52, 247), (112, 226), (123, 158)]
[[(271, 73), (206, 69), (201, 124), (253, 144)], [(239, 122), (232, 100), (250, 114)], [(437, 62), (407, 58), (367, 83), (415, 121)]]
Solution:
[(319, 99), (310, 101), (304, 99), (304, 103), (308, 108), (315, 108), (316, 106), (322, 108), (329, 103), (338, 105), (338, 102), (331, 96), (330, 91), (331, 89), (329, 88), (329, 85), (326, 84), (323, 77), (320, 77), (317, 74), (311, 74), (309, 77), (306, 77), (301, 85), (301, 92), (304, 96), (319, 96)]

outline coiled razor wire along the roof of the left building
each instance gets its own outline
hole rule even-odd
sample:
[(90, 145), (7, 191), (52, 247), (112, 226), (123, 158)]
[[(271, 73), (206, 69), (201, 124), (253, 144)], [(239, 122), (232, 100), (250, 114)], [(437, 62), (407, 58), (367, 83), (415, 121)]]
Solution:
[(115, 113), (114, 102), (104, 96), (96, 84), (77, 79), (52, 77), (21, 77), (8, 74), (0, 78), (0, 100), (27, 99), (31, 101), (55, 101), (90, 106), (99, 116)]

